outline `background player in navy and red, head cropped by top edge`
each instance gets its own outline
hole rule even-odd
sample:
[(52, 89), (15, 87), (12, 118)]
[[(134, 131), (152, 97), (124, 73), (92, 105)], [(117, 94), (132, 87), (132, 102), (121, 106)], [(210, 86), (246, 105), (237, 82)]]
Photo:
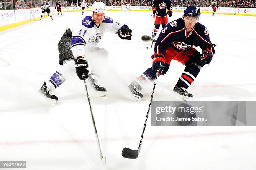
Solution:
[[(155, 28), (152, 32), (152, 41), (156, 42), (155, 36), (162, 24), (162, 28), (168, 23), (168, 17), (172, 16), (172, 2), (171, 0), (152, 0), (151, 7), (153, 11), (153, 19)], [(168, 10), (166, 13), (166, 9)]]

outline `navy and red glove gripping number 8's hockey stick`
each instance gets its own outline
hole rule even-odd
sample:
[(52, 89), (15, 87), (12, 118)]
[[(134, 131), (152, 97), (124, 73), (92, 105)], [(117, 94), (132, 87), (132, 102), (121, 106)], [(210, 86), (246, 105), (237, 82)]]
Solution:
[(153, 64), (152, 64), (153, 72), (156, 73), (156, 70), (159, 70), (159, 75), (162, 75), (164, 70), (164, 63), (165, 63), (164, 55), (155, 53), (152, 57), (153, 57)]

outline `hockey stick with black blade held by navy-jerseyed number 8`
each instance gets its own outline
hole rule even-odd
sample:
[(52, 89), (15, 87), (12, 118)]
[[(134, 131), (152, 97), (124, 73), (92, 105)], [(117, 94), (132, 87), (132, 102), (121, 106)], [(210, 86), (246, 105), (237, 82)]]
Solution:
[(144, 132), (145, 132), (145, 128), (146, 128), (146, 124), (147, 124), (147, 120), (148, 120), (148, 114), (149, 114), (151, 102), (152, 102), (152, 100), (153, 100), (153, 94), (154, 94), (154, 91), (155, 91), (156, 80), (157, 80), (157, 77), (158, 77), (158, 76), (159, 76), (159, 70), (156, 71), (156, 77), (155, 77), (155, 81), (154, 81), (154, 87), (153, 87), (153, 90), (152, 90), (152, 94), (151, 94), (151, 98), (150, 98), (150, 103), (149, 103), (149, 107), (148, 107), (148, 112), (147, 112), (147, 115), (146, 115), (146, 120), (145, 120), (145, 123), (144, 123), (144, 127), (143, 127), (143, 131), (142, 131), (142, 135), (141, 135), (141, 140), (140, 140), (138, 149), (137, 149), (137, 150), (132, 150), (132, 149), (126, 148), (126, 147), (123, 148), (123, 150), (122, 150), (122, 156), (123, 156), (124, 158), (128, 158), (128, 159), (136, 159), (136, 158), (138, 158), (138, 155), (139, 155), (140, 150), (141, 150), (141, 143), (142, 143), (143, 135), (144, 135)]

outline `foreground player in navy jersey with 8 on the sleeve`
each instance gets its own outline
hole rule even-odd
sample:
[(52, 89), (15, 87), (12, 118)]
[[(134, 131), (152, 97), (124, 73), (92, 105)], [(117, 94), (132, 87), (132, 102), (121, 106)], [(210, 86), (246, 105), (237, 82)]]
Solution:
[[(143, 85), (154, 81), (156, 70), (159, 70), (159, 75), (166, 74), (171, 60), (177, 60), (186, 66), (173, 91), (181, 95), (184, 100), (192, 99), (193, 95), (187, 91), (187, 88), (202, 67), (210, 64), (215, 53), (213, 49), (215, 44), (210, 41), (205, 26), (198, 23), (199, 17), (199, 7), (191, 5), (184, 10), (182, 18), (168, 23), (161, 31), (152, 55), (152, 67), (129, 85), (136, 100), (141, 100), (143, 97), (140, 92)], [(193, 45), (200, 47), (202, 54), (193, 48)]]

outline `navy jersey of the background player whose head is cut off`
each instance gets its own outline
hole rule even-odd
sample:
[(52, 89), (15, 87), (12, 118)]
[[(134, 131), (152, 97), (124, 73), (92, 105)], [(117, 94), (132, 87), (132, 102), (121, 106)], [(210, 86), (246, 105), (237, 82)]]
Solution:
[(171, 0), (152, 0), (151, 1), (152, 9), (156, 7), (157, 14), (156, 16), (165, 17), (167, 16), (166, 9), (172, 9), (172, 2)]

